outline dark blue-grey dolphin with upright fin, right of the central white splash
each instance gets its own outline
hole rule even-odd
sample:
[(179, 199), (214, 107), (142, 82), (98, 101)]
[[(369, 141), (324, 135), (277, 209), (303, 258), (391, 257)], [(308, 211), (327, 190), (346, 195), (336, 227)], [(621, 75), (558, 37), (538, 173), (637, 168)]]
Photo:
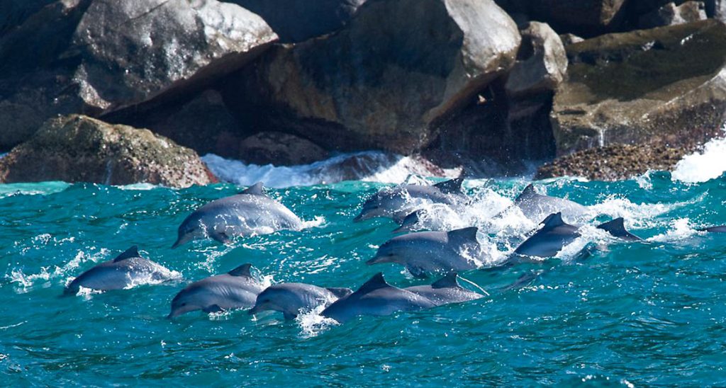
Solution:
[(580, 236), (577, 226), (562, 220), (562, 212), (549, 215), (542, 221), (544, 226), (515, 249), (517, 255), (552, 257)]

